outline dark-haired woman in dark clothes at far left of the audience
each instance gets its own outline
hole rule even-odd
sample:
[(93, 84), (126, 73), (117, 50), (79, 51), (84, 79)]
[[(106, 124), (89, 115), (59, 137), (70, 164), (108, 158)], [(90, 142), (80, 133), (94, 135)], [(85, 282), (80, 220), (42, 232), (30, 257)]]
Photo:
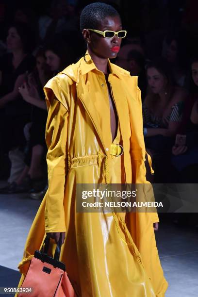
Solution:
[(0, 59), (0, 143), (3, 144), (0, 148), (1, 165), (4, 154), (12, 148), (22, 148), (25, 145), (23, 127), (30, 121), (31, 109), (22, 100), (18, 87), (26, 79), (26, 73), (31, 72), (35, 66), (35, 59), (30, 54), (33, 49), (33, 35), (27, 25), (11, 25), (6, 41), (10, 53)]

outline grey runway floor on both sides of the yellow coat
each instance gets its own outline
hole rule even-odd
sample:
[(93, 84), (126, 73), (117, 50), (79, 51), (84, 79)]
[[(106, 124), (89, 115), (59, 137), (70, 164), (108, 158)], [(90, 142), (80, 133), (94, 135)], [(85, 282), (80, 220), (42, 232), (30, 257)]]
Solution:
[[(17, 265), (39, 204), (28, 194), (0, 195), (0, 287), (17, 286)], [(169, 283), (165, 297), (198, 297), (198, 231), (161, 219), (156, 242)]]

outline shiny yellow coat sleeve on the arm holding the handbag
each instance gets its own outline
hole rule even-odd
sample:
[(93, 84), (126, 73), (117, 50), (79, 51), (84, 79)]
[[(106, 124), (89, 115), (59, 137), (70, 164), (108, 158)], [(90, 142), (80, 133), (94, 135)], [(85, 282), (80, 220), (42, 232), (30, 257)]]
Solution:
[[(48, 147), (48, 182), (45, 207), (45, 231), (65, 232), (64, 192), (67, 173), (68, 110), (62, 103), (63, 93), (53, 78), (44, 88), (48, 107), (46, 143)], [(61, 94), (60, 94), (61, 93)], [(64, 99), (64, 101), (66, 101)]]

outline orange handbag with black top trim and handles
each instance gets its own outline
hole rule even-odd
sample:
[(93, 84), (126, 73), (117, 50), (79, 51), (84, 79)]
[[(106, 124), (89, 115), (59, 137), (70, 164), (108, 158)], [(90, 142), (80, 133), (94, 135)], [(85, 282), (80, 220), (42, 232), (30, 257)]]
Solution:
[[(35, 250), (18, 297), (77, 297), (65, 264), (59, 261), (62, 237), (53, 258), (48, 256), (49, 242), (50, 239), (46, 237), (41, 250)], [(25, 291), (25, 288), (31, 288), (32, 292), (28, 289)]]

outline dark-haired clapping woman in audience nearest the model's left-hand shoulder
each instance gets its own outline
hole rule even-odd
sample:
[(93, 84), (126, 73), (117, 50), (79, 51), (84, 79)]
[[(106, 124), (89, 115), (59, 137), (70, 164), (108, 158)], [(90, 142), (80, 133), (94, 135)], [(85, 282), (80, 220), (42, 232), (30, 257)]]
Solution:
[[(23, 99), (32, 105), (32, 127), (24, 160), (26, 166), (17, 180), (0, 189), (0, 193), (11, 194), (31, 191), (31, 198), (43, 197), (43, 193), (40, 195), (40, 191), (42, 192), (46, 188), (47, 182), (45, 166), (43, 168), (42, 165), (47, 153), (45, 126), (48, 115), (43, 86), (50, 77), (70, 64), (70, 58), (73, 59), (73, 54), (62, 40), (51, 42), (46, 46), (44, 52), (39, 51), (37, 53), (36, 70), (29, 75), (28, 83), (25, 82), (19, 88), (19, 93)], [(46, 64), (50, 73), (46, 71)]]

